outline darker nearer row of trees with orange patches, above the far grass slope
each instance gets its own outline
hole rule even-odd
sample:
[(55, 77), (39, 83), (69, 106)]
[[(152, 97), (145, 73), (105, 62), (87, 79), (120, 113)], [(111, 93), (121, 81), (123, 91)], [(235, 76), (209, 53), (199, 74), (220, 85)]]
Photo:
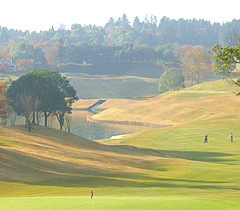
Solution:
[[(127, 66), (129, 63), (143, 62), (153, 63), (161, 68), (179, 66), (182, 57), (181, 48), (174, 43), (150, 48), (139, 43), (114, 46), (105, 45), (98, 41), (91, 45), (85, 42), (76, 45), (64, 45), (58, 42), (53, 44), (44, 42), (34, 45), (19, 42), (11, 46), (9, 54), (0, 48), (0, 57), (2, 55), (3, 58), (16, 63), (19, 71), (39, 68), (70, 71), (72, 66), (77, 66), (78, 69), (80, 67), (89, 69), (96, 67), (95, 74), (105, 74), (105, 69), (109, 69), (108, 73), (110, 74), (124, 74), (124, 68), (118, 69), (119, 72), (114, 71), (114, 68)], [(2, 69), (4, 70), (4, 66)]]

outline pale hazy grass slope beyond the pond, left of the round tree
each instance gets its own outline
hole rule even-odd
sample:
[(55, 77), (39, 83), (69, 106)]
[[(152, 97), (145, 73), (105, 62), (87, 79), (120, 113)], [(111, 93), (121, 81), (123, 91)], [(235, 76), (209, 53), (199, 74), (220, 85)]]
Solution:
[(81, 99), (142, 98), (157, 95), (158, 81), (136, 76), (91, 76), (66, 73)]

